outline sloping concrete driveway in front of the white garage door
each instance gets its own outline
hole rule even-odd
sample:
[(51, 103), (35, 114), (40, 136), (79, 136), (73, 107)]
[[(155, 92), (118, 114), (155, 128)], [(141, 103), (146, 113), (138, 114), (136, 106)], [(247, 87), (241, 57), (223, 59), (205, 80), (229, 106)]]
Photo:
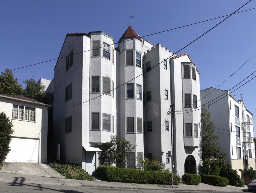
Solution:
[(5, 162), (0, 172), (26, 174), (43, 177), (65, 178), (52, 169), (49, 164), (24, 163), (24, 162)]

